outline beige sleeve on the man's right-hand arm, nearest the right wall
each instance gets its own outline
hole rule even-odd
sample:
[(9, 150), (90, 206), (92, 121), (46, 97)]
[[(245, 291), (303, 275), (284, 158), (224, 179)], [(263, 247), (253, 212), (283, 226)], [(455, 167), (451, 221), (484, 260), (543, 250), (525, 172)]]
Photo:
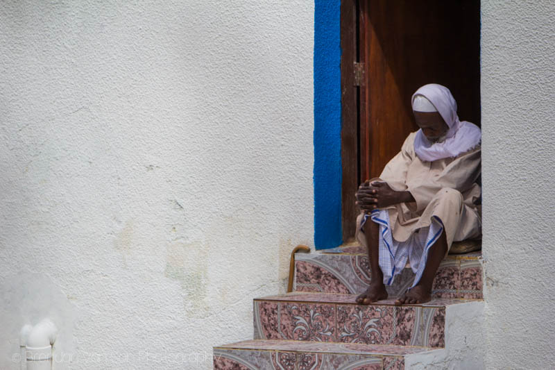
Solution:
[[(434, 162), (431, 162), (431, 166)], [(443, 187), (459, 192), (469, 190), (481, 173), (481, 149), (477, 147), (459, 155), (441, 171), (429, 171), (425, 178), (409, 184), (408, 190), (416, 200), (416, 212), (424, 210), (432, 197)]]

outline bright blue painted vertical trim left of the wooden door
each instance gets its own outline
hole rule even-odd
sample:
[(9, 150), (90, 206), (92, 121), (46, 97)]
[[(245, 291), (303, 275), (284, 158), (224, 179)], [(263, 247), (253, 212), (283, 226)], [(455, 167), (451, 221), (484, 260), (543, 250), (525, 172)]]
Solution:
[(339, 246), (341, 230), (341, 0), (314, 1), (314, 244)]

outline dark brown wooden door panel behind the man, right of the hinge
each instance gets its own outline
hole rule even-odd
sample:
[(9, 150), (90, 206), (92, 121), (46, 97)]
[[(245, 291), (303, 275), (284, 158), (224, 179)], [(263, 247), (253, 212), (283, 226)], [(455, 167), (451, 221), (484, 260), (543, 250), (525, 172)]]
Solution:
[(479, 2), (360, 4), (366, 68), (360, 137), (364, 180), (378, 176), (405, 137), (418, 129), (410, 99), (426, 83), (449, 87), (459, 103), (459, 117), (479, 125)]

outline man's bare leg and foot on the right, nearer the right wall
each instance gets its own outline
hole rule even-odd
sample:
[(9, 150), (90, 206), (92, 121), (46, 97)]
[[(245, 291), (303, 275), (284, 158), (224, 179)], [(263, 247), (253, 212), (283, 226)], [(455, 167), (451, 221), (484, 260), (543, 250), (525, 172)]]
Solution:
[(443, 229), (439, 239), (429, 247), (428, 260), (422, 272), (422, 278), (409, 292), (395, 301), (395, 305), (425, 303), (432, 299), (432, 283), (434, 283), (436, 271), (438, 271), (445, 253), (447, 253), (447, 237), (445, 236), (445, 229)]

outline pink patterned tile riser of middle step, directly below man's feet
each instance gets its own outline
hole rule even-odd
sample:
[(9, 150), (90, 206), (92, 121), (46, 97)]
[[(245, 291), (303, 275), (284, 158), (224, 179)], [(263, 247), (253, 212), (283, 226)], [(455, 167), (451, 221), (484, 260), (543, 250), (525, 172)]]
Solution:
[(443, 347), (445, 308), (254, 301), (255, 339)]

